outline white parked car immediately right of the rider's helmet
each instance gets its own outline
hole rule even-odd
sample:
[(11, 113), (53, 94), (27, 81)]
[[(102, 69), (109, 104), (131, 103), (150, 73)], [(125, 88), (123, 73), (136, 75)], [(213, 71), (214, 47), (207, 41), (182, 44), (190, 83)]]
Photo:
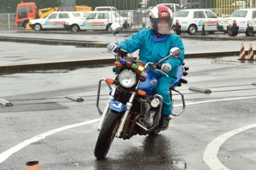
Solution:
[(214, 33), (214, 31), (218, 31), (218, 19), (219, 17), (211, 10), (180, 10), (173, 17), (173, 30), (177, 35), (182, 32), (195, 35), (196, 32), (202, 31), (204, 25), (205, 31)]

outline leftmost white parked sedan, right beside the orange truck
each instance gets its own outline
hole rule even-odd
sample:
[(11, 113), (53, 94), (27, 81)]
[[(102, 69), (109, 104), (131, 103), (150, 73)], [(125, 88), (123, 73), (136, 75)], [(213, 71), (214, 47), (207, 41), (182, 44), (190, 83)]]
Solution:
[(29, 26), (35, 31), (43, 29), (64, 29), (64, 24), (72, 19), (80, 18), (79, 12), (52, 12), (45, 19), (29, 21)]

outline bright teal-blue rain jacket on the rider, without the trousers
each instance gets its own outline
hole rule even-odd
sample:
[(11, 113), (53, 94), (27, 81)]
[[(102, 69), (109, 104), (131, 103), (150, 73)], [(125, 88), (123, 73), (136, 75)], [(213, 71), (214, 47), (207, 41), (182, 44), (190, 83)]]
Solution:
[[(170, 35), (161, 35), (157, 38), (154, 31), (145, 28), (134, 33), (130, 38), (125, 39), (120, 43), (121, 49), (127, 50), (128, 53), (132, 53), (140, 49), (139, 56), (145, 64), (148, 62), (157, 63), (161, 59), (168, 56), (170, 49), (173, 47), (178, 47), (181, 50), (181, 55), (179, 58), (168, 58), (162, 61), (163, 63), (169, 63), (172, 65), (171, 72), (167, 74), (174, 78), (173, 82), (176, 80), (177, 68), (182, 65), (184, 60), (184, 46), (182, 40), (178, 35), (172, 33)], [(159, 72), (158, 72), (159, 73)], [(159, 73), (161, 74), (161, 73)]]

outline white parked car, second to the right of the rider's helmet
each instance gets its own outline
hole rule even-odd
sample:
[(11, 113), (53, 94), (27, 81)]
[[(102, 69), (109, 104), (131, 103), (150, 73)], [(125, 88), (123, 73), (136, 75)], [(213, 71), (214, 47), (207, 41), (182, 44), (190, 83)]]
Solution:
[(256, 19), (256, 9), (241, 9), (234, 11), (230, 17), (218, 20), (218, 31), (228, 33), (229, 36), (237, 36), (238, 33), (245, 33), (246, 36), (254, 36), (248, 29), (248, 22)]

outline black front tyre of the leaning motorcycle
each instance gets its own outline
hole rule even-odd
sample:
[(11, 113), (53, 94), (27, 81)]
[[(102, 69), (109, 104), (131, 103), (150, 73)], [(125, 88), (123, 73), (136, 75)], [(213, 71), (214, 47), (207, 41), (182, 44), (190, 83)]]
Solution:
[(120, 112), (115, 112), (111, 109), (109, 110), (94, 149), (94, 155), (97, 159), (100, 160), (106, 157), (114, 140), (121, 116), (122, 114), (120, 114)]

